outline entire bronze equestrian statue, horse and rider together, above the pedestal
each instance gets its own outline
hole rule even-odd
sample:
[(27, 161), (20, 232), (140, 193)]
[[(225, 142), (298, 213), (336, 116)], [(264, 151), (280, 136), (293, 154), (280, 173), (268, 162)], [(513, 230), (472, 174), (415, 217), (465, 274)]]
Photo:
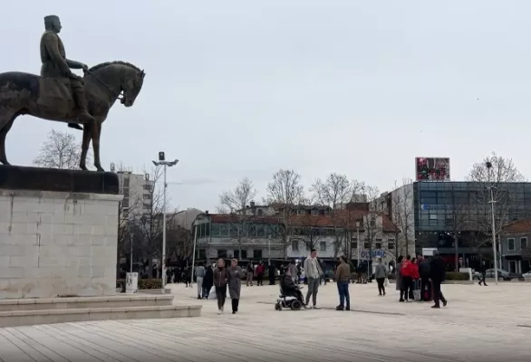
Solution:
[[(94, 166), (103, 171), (100, 161), (101, 123), (120, 99), (131, 107), (142, 89), (144, 71), (129, 62), (104, 62), (89, 69), (82, 62), (66, 58), (59, 33), (61, 20), (44, 17), (41, 38), (41, 75), (20, 71), (0, 73), (0, 163), (5, 156), (5, 136), (20, 115), (31, 115), (68, 123), (82, 129), (80, 167), (86, 170), (86, 157), (92, 140)], [(71, 69), (82, 69), (79, 77)], [(80, 126), (82, 125), (82, 126)]]

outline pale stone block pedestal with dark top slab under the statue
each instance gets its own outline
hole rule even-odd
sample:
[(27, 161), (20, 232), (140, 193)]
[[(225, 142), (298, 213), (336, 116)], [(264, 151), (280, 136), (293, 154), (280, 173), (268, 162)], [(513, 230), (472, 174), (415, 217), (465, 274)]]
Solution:
[(0, 167), (0, 299), (116, 292), (118, 176)]

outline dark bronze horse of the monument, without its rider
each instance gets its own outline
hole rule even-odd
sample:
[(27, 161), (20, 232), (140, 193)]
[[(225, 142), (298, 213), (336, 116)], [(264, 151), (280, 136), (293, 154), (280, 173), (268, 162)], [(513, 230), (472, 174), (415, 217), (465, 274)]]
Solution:
[[(82, 78), (88, 110), (96, 120), (83, 125), (80, 167), (86, 170), (86, 157), (92, 139), (94, 166), (103, 171), (100, 161), (101, 123), (107, 118), (116, 100), (131, 107), (144, 82), (144, 71), (129, 62), (104, 62), (93, 66)], [(5, 157), (5, 136), (14, 119), (31, 115), (40, 119), (78, 123), (79, 109), (75, 106), (67, 78), (41, 76), (11, 71), (0, 73), (0, 162), (9, 165)]]

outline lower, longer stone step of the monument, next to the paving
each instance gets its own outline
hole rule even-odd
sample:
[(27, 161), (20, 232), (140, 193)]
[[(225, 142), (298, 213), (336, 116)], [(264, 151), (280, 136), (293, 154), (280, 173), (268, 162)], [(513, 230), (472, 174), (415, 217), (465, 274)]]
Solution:
[(0, 328), (106, 319), (200, 317), (200, 305), (0, 311)]

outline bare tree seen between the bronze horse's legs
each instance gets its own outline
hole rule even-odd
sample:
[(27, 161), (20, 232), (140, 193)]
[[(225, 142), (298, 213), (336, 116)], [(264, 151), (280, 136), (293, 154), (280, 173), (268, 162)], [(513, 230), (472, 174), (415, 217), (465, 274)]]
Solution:
[[(37, 167), (79, 169), (81, 144), (72, 133), (51, 130), (48, 138), (34, 158)], [(87, 156), (87, 162), (90, 157)]]

